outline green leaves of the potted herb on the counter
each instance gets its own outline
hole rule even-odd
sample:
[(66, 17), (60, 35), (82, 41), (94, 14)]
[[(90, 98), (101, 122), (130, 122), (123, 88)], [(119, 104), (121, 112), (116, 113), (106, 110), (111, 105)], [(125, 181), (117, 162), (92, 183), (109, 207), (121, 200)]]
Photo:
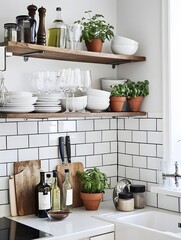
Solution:
[(84, 193), (101, 193), (110, 188), (106, 174), (98, 168), (87, 169), (84, 172), (77, 171), (77, 176)]

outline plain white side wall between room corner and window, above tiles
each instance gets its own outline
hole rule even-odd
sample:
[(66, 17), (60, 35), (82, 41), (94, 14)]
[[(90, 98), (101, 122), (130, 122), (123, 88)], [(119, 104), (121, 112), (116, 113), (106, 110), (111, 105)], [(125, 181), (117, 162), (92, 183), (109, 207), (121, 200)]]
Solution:
[(146, 62), (119, 66), (118, 75), (135, 81), (148, 79), (150, 95), (142, 109), (162, 112), (161, 0), (121, 0), (118, 9), (118, 34), (137, 40), (136, 55), (146, 56)]

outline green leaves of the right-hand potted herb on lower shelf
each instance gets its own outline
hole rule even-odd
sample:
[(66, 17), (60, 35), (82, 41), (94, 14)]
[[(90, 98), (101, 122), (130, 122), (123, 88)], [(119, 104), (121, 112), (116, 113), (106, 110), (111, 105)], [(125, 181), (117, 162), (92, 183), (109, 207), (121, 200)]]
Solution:
[(149, 81), (144, 80), (144, 81), (138, 81), (138, 82), (133, 82), (131, 80), (127, 80), (125, 82), (126, 88), (127, 88), (127, 98), (131, 97), (138, 97), (142, 96), (145, 97), (149, 95)]

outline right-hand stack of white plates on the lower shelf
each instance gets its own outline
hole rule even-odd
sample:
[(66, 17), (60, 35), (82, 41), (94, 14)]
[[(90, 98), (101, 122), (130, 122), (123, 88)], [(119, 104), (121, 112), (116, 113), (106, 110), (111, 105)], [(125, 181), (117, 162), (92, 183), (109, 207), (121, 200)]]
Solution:
[(35, 112), (54, 113), (61, 111), (60, 96), (58, 94), (39, 94), (35, 103)]

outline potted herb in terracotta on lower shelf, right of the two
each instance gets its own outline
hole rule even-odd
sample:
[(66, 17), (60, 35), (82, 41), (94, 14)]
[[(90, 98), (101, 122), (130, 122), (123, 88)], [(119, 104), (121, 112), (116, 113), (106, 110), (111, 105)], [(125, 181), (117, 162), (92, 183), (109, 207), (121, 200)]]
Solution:
[(133, 112), (140, 111), (143, 98), (149, 95), (149, 81), (134, 82), (127, 80), (127, 100), (130, 106), (130, 110)]

